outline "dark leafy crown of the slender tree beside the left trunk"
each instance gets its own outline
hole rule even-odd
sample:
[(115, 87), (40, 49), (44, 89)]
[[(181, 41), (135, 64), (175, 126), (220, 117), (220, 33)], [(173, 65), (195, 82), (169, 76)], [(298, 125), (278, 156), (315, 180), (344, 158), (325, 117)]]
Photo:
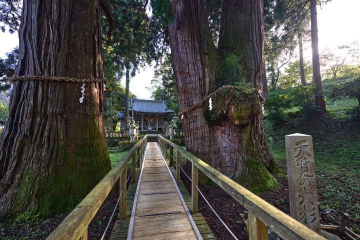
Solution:
[[(146, 4), (139, 0), (108, 0), (106, 4), (115, 28), (112, 32), (112, 45), (103, 41), (105, 68), (110, 67), (113, 74), (120, 78), (128, 69), (131, 76), (139, 67), (151, 62), (153, 46), (149, 40), (152, 35), (146, 14)], [(104, 15), (104, 14), (102, 14)], [(109, 21), (101, 17), (102, 35), (106, 39)], [(110, 46), (109, 46), (110, 45)]]

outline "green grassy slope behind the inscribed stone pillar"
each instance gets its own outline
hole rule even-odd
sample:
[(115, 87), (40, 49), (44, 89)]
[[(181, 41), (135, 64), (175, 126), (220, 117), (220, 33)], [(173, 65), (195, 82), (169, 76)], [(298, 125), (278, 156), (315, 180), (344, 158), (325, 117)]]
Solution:
[[(346, 78), (323, 81), (329, 84)], [(282, 90), (283, 91), (283, 90)], [(270, 94), (273, 94), (271, 92)], [(356, 106), (355, 98), (326, 102), (329, 114), (317, 119), (289, 119), (283, 124), (272, 125), (264, 121), (267, 142), (272, 155), (286, 165), (284, 136), (295, 132), (312, 135), (320, 211), (332, 209), (328, 214), (335, 224), (347, 212), (352, 228), (360, 230), (360, 122), (350, 117), (350, 107)], [(265, 109), (266, 110), (266, 109)]]

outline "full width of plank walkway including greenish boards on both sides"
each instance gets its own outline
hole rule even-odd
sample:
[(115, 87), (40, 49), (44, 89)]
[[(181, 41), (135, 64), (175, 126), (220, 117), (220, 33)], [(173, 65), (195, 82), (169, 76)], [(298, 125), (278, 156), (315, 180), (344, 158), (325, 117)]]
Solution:
[(109, 239), (215, 239), (201, 213), (190, 215), (190, 194), (181, 180), (174, 184), (175, 171), (156, 142), (147, 143), (144, 157), (141, 172), (136, 168), (137, 189), (131, 183), (127, 190), (127, 217), (116, 221)]

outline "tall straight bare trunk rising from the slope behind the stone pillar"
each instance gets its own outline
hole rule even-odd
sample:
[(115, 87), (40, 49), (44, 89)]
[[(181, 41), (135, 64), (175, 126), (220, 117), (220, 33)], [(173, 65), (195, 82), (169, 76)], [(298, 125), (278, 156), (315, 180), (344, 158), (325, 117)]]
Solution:
[(312, 83), (315, 85), (315, 105), (322, 113), (326, 113), (325, 98), (322, 92), (320, 60), (318, 53), (318, 35), (317, 35), (317, 12), (316, 0), (310, 0), (311, 13), (311, 48), (312, 48)]

